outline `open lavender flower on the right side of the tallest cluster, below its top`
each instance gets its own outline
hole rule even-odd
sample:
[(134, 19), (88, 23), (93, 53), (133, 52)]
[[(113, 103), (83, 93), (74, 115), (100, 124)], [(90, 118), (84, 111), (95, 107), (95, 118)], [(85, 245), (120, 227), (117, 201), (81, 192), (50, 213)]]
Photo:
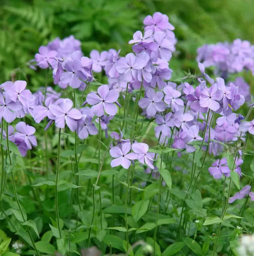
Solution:
[(151, 53), (151, 58), (157, 61), (158, 58), (169, 61), (172, 57), (171, 51), (174, 45), (166, 39), (166, 34), (162, 31), (155, 32), (154, 40), (158, 44), (158, 50)]

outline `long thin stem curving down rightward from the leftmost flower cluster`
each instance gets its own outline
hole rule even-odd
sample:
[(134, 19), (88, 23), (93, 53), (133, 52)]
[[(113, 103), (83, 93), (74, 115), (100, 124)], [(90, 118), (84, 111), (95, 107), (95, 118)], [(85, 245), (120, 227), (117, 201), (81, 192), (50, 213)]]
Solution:
[[(10, 166), (12, 166), (12, 159), (11, 159), (11, 155), (10, 155), (9, 136), (8, 136), (8, 134), (9, 134), (9, 133), (8, 133), (8, 123), (6, 123), (7, 152), (8, 152), (8, 158), (9, 158)], [(23, 209), (22, 209), (21, 204), (20, 204), (20, 202), (19, 202), (19, 200), (18, 200), (17, 189), (16, 189), (16, 184), (15, 184), (15, 177), (14, 177), (13, 171), (11, 171), (11, 181), (12, 181), (14, 196), (15, 196), (16, 203), (17, 203), (17, 205), (18, 205), (18, 209), (19, 209), (20, 214), (21, 214), (21, 216), (22, 216), (23, 222), (26, 222), (26, 218), (25, 218)], [(27, 232), (28, 232), (28, 235), (29, 235), (30, 240), (31, 240), (31, 242), (32, 242), (32, 247), (34, 248), (34, 250), (35, 250), (35, 252), (36, 252), (36, 255), (37, 255), (37, 256), (40, 256), (39, 251), (37, 250), (37, 248), (36, 248), (36, 246), (35, 246), (35, 243), (34, 243), (34, 240), (33, 240), (33, 238), (32, 238), (31, 231), (30, 231), (30, 229), (29, 229), (28, 226), (26, 226), (26, 230), (27, 230)]]

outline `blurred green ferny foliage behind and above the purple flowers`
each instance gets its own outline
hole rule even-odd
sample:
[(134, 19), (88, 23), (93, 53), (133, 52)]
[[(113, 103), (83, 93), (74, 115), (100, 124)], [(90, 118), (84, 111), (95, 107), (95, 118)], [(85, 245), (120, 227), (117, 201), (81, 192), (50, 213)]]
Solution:
[[(197, 67), (196, 50), (204, 43), (254, 41), (254, 0), (0, 0), (0, 83), (29, 79), (35, 87), (44, 71), (24, 67), (40, 45), (73, 34), (88, 55), (92, 49), (122, 49), (143, 18), (156, 11), (169, 16), (178, 39), (170, 62), (175, 77)], [(25, 75), (26, 74), (26, 75)]]

